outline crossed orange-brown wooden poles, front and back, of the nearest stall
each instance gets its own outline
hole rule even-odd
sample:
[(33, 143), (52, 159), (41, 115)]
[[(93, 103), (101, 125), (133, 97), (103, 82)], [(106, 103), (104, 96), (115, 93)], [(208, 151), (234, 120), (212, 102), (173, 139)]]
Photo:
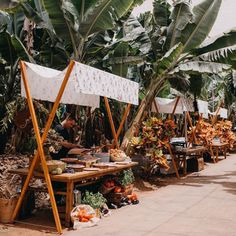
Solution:
[[(59, 106), (60, 100), (62, 98), (65, 87), (67, 85), (67, 82), (70, 78), (70, 74), (73, 70), (74, 64), (75, 64), (75, 61), (71, 61), (69, 66), (68, 66), (65, 77), (64, 77), (63, 82), (61, 84), (61, 87), (59, 89), (58, 95), (57, 95), (56, 100), (54, 102), (52, 111), (49, 114), (46, 126), (44, 128), (43, 135), (41, 137), (40, 136), (40, 131), (39, 131), (39, 125), (38, 125), (38, 121), (37, 121), (37, 118), (36, 118), (35, 109), (34, 109), (34, 105), (33, 105), (33, 99), (32, 99), (29, 84), (28, 84), (28, 81), (27, 81), (26, 66), (25, 66), (25, 63), (23, 61), (20, 61), (22, 79), (23, 79), (23, 83), (24, 83), (24, 87), (25, 87), (26, 98), (27, 98), (28, 107), (29, 107), (29, 110), (30, 110), (30, 115), (31, 115), (31, 118), (32, 118), (32, 123), (33, 123), (33, 128), (34, 128), (34, 132), (35, 132), (35, 136), (36, 136), (38, 149), (37, 149), (37, 153), (35, 154), (35, 156), (33, 158), (31, 166), (29, 168), (28, 175), (25, 179), (24, 185), (23, 185), (22, 190), (21, 190), (20, 197), (17, 201), (16, 207), (14, 209), (14, 212), (13, 212), (11, 218), (12, 218), (12, 221), (14, 222), (14, 220), (16, 219), (16, 217), (19, 213), (19, 210), (20, 210), (20, 207), (22, 205), (24, 196), (25, 196), (26, 191), (27, 191), (28, 186), (29, 186), (29, 182), (30, 182), (30, 180), (33, 176), (33, 172), (35, 170), (36, 164), (38, 163), (38, 161), (41, 161), (43, 174), (44, 174), (44, 178), (45, 178), (45, 181), (46, 181), (46, 184), (47, 184), (47, 189), (48, 189), (48, 193), (49, 193), (50, 201), (51, 201), (51, 205), (52, 205), (53, 216), (54, 216), (54, 220), (55, 220), (55, 223), (56, 223), (56, 229), (57, 229), (59, 234), (62, 234), (62, 226), (61, 226), (61, 221), (60, 221), (60, 217), (59, 217), (59, 214), (58, 214), (58, 209), (57, 209), (57, 205), (56, 205), (56, 201), (55, 201), (55, 196), (54, 196), (54, 192), (53, 192), (53, 188), (52, 188), (52, 183), (51, 183), (51, 178), (50, 178), (50, 175), (49, 175), (49, 170), (48, 170), (48, 167), (47, 167), (47, 163), (46, 163), (46, 159), (45, 159), (45, 155), (44, 155), (44, 151), (43, 151), (43, 143), (45, 142), (45, 140), (47, 138), (48, 131), (51, 128), (51, 125), (52, 125), (52, 122), (54, 120), (57, 108)], [(117, 148), (119, 148), (118, 137), (121, 133), (121, 130), (123, 128), (126, 117), (129, 114), (131, 104), (127, 105), (127, 107), (125, 109), (125, 112), (124, 112), (124, 115), (123, 115), (123, 118), (122, 118), (122, 121), (120, 123), (119, 129), (116, 132), (108, 99), (106, 97), (104, 97), (104, 99), (105, 99), (106, 110), (107, 110), (108, 117), (109, 117), (109, 122), (110, 122), (111, 129), (112, 129), (112, 134), (113, 134), (113, 137), (114, 137), (114, 145)]]

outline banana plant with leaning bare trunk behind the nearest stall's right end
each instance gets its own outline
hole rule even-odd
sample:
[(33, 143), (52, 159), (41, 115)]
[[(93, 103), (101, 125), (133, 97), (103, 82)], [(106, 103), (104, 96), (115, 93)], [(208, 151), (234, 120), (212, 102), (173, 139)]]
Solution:
[[(161, 1), (156, 0), (156, 2)], [(154, 97), (161, 91), (161, 88), (170, 77), (174, 78), (179, 73), (183, 75), (196, 73), (215, 74), (231, 69), (231, 65), (224, 62), (203, 60), (201, 57), (201, 52), (206, 54), (215, 49), (221, 49), (219, 41), (214, 41), (200, 51), (201, 44), (214, 25), (221, 2), (221, 0), (205, 0), (194, 6), (192, 11), (189, 1), (179, 0), (175, 2), (173, 12), (170, 15), (171, 23), (166, 30), (167, 34), (164, 32), (164, 37), (160, 35), (164, 38), (164, 50), (162, 52), (165, 55), (156, 62), (152, 61), (154, 73), (152, 74), (151, 83), (146, 88), (145, 97), (141, 101), (131, 127), (123, 139), (122, 147), (127, 152), (130, 147), (129, 140), (131, 140), (137, 127), (139, 127), (144, 111), (149, 109)], [(232, 34), (228, 35), (228, 37), (223, 37), (220, 38), (221, 46), (224, 47), (227, 42), (234, 45)]]

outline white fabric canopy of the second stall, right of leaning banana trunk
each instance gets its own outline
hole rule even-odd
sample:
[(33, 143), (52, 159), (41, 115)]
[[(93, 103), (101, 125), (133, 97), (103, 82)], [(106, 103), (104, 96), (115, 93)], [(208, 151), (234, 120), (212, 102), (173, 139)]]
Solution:
[[(159, 113), (171, 114), (178, 98), (159, 98), (156, 97), (156, 105)], [(179, 102), (175, 109), (175, 114), (183, 114), (184, 111), (193, 111), (192, 101), (185, 98), (179, 98)], [(156, 112), (155, 105), (152, 104), (152, 112)]]

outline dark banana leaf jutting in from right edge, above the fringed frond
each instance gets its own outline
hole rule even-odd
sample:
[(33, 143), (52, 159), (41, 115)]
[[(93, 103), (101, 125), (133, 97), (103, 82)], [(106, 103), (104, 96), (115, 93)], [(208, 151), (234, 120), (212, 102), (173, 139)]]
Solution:
[(218, 35), (204, 42), (194, 53), (196, 55), (204, 54), (211, 51), (216, 51), (221, 48), (228, 48), (236, 45), (236, 28), (227, 33)]

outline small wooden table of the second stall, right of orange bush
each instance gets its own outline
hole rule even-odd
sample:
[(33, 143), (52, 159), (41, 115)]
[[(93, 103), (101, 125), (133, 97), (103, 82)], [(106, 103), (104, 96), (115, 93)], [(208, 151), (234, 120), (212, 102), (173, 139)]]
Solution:
[(181, 151), (173, 150), (173, 154), (176, 156), (176, 158), (181, 159), (183, 161), (184, 176), (187, 174), (187, 157), (203, 157), (203, 153), (206, 150), (207, 149), (203, 146), (183, 148)]

